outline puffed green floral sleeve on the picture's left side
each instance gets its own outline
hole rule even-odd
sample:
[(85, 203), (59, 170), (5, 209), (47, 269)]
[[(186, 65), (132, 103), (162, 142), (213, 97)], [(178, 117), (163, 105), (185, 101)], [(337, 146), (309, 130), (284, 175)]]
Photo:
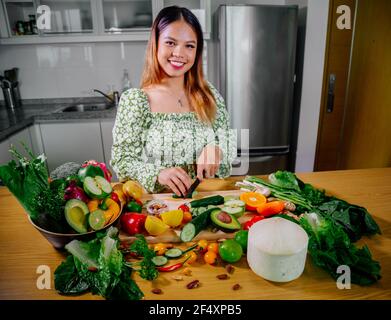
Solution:
[(110, 164), (120, 180), (137, 180), (148, 192), (157, 192), (163, 188), (157, 182), (162, 167), (148, 163), (144, 152), (148, 113), (148, 100), (140, 89), (132, 88), (121, 95)]

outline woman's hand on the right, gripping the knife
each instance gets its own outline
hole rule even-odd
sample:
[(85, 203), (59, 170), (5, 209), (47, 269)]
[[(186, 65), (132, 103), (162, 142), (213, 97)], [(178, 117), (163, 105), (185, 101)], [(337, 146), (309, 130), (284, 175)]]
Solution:
[[(214, 145), (207, 145), (202, 149), (197, 159), (197, 178), (213, 178), (219, 169), (222, 158), (222, 151)], [(205, 175), (204, 175), (205, 172)]]

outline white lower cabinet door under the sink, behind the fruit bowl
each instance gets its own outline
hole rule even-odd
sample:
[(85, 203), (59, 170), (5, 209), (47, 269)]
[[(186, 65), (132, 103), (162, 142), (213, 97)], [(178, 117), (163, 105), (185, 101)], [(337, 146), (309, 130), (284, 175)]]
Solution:
[(64, 162), (104, 161), (99, 121), (41, 123), (49, 172)]

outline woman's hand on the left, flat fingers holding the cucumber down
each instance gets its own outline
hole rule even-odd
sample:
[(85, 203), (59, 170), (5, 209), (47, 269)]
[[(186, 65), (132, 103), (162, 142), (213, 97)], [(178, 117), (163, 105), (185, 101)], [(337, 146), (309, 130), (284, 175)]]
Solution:
[(177, 196), (185, 195), (192, 183), (187, 172), (180, 167), (161, 170), (157, 179), (161, 185), (169, 187)]

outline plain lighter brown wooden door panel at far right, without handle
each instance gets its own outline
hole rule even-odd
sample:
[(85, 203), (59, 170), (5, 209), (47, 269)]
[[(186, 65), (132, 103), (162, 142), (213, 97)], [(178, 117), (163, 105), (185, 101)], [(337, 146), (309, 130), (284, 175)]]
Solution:
[(391, 166), (391, 1), (359, 0), (339, 169)]

